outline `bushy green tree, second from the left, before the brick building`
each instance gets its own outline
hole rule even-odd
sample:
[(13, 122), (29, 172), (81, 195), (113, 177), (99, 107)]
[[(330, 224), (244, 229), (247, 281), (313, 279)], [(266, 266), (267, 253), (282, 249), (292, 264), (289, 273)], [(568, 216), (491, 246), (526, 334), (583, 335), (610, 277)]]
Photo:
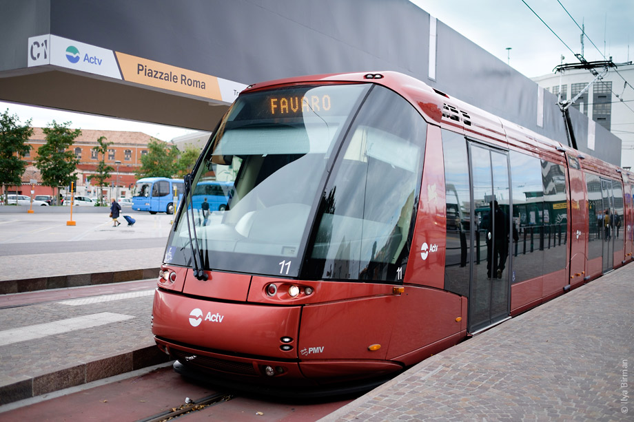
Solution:
[(55, 120), (43, 130), (46, 135), (46, 143), (37, 150), (35, 167), (42, 174), (42, 182), (46, 186), (57, 189), (59, 198), (59, 187), (68, 186), (75, 181), (73, 172), (79, 160), (70, 149), (67, 151), (75, 138), (81, 135), (79, 129), (69, 129), (70, 122), (58, 125)]

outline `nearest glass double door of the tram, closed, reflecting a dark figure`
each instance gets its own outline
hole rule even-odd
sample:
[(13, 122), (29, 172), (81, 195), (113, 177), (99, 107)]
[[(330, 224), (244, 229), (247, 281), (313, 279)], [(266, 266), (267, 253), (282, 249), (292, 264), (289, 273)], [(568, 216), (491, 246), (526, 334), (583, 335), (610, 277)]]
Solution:
[(509, 316), (511, 195), (508, 154), (475, 144), (469, 151), (475, 224), (468, 330), (474, 333)]

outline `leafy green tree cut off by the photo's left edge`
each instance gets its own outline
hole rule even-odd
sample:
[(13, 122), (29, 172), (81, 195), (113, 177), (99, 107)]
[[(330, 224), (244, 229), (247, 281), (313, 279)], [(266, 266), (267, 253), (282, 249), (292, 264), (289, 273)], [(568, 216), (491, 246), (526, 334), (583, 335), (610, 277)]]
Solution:
[(5, 204), (8, 199), (7, 187), (22, 184), (25, 162), (21, 158), (31, 149), (26, 143), (33, 134), (30, 125), (29, 119), (21, 126), (17, 114), (10, 116), (8, 109), (0, 116), (0, 184), (4, 186)]

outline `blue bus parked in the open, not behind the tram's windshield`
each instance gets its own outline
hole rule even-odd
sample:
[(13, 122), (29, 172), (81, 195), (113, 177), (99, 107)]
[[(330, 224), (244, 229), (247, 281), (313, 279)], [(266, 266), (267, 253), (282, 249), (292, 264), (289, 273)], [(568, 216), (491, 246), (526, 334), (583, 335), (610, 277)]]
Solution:
[(183, 183), (181, 179), (139, 179), (132, 196), (132, 209), (150, 211), (150, 214), (173, 214), (183, 198)]

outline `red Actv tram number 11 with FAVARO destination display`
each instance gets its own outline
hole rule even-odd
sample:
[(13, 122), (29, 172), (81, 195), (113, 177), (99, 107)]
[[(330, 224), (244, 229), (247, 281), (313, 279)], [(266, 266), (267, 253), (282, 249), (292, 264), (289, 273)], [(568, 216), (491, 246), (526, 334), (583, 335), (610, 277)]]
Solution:
[(403, 74), (252, 85), (186, 180), (152, 333), (216, 381), (371, 385), (630, 262), (633, 183)]

